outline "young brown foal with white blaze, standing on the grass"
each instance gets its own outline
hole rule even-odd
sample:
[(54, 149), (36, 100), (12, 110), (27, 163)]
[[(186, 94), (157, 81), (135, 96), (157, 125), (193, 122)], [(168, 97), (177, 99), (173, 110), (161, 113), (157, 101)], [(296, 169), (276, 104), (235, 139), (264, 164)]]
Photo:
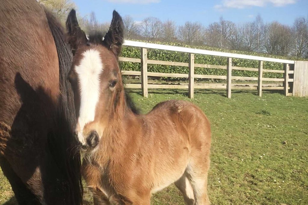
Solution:
[(186, 204), (209, 204), (209, 120), (194, 104), (171, 100), (147, 115), (125, 101), (118, 65), (123, 22), (114, 11), (109, 31), (89, 37), (75, 11), (67, 19), (74, 60), (70, 82), (82, 144), (82, 174), (95, 204), (149, 205), (151, 194), (175, 183)]

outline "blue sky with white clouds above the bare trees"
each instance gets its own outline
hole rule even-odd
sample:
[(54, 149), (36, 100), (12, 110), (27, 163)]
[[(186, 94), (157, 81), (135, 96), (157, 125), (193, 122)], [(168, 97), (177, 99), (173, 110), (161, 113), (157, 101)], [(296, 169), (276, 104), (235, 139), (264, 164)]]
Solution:
[(207, 26), (225, 20), (235, 23), (253, 21), (260, 14), (264, 22), (292, 25), (297, 17), (308, 17), (308, 0), (73, 0), (82, 16), (95, 12), (99, 22), (111, 20), (112, 10), (130, 15), (135, 21), (156, 17), (171, 19), (177, 25), (185, 21)]

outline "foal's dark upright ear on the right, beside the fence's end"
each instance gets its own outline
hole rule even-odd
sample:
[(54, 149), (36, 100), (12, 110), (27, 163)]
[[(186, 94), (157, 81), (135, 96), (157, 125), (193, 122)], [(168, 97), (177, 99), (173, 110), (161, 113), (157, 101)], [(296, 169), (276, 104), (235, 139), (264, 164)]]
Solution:
[(124, 37), (124, 26), (121, 16), (113, 11), (111, 25), (104, 37), (103, 45), (110, 49), (116, 56), (121, 52)]

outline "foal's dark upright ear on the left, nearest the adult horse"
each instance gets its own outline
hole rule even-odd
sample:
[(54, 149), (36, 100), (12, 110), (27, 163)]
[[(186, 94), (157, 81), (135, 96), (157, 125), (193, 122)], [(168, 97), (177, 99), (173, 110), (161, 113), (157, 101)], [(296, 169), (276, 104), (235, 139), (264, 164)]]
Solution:
[(76, 12), (74, 9), (68, 14), (66, 20), (66, 28), (68, 34), (68, 43), (71, 45), (72, 53), (75, 54), (78, 46), (87, 43), (86, 34), (81, 30), (76, 18)]

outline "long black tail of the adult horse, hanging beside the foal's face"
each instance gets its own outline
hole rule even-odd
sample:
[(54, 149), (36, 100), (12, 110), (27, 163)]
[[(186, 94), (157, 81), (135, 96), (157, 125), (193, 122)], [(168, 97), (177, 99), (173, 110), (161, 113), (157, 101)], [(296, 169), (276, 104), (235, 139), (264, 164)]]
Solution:
[[(54, 142), (52, 154), (56, 163), (61, 168), (66, 180), (65, 192), (67, 204), (82, 204), (83, 187), (80, 174), (80, 155), (76, 150), (73, 128), (76, 123), (74, 96), (71, 85), (67, 80), (71, 68), (72, 54), (65, 42), (63, 27), (59, 21), (45, 9), (48, 24), (55, 41), (59, 58), (59, 83), (60, 95), (58, 104), (58, 117), (56, 127), (58, 130)], [(64, 188), (64, 187), (63, 187)]]

